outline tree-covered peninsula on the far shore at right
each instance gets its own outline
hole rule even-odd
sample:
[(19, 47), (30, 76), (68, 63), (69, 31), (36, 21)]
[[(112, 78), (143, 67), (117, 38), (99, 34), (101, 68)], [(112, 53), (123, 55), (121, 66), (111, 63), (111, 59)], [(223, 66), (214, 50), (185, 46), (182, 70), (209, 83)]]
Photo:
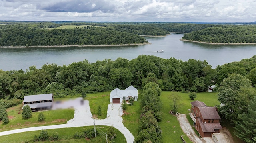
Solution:
[(256, 26), (210, 27), (185, 34), (182, 39), (208, 43), (256, 43)]

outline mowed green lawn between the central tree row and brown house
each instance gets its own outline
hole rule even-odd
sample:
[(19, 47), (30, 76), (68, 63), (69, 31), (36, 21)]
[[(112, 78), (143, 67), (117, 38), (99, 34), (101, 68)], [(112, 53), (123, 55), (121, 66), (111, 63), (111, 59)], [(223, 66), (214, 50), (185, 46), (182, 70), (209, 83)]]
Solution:
[[(180, 123), (177, 117), (169, 114), (169, 111), (171, 110), (171, 100), (168, 96), (173, 93), (174, 92), (163, 91), (160, 96), (160, 100), (163, 103), (163, 119), (159, 122), (159, 125), (162, 129), (162, 141), (164, 143), (183, 143), (180, 139), (180, 136), (184, 135), (186, 142), (192, 143), (180, 128)], [(178, 112), (181, 114), (188, 114), (190, 112), (188, 111), (188, 109), (191, 108), (190, 102), (193, 102), (195, 100), (202, 101), (207, 106), (215, 106), (220, 104), (217, 100), (217, 93), (197, 93), (197, 98), (195, 98), (195, 100), (190, 100), (188, 93), (175, 92), (175, 94), (178, 94), (181, 97), (180, 107), (178, 108)]]

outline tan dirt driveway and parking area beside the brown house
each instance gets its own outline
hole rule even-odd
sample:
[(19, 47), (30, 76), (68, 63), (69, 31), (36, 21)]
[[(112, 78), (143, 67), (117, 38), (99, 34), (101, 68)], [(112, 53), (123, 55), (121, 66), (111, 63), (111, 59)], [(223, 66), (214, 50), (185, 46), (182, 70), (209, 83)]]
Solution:
[[(196, 135), (195, 131), (192, 129), (192, 126), (189, 124), (188, 119), (186, 118), (186, 114), (179, 114), (177, 118), (178, 121), (180, 122), (181, 129), (193, 143), (215, 143), (213, 139), (210, 137), (199, 138)], [(225, 127), (223, 127), (223, 129), (220, 130), (220, 133), (214, 133), (214, 136), (218, 140), (218, 142), (216, 143), (234, 142), (232, 135)]]

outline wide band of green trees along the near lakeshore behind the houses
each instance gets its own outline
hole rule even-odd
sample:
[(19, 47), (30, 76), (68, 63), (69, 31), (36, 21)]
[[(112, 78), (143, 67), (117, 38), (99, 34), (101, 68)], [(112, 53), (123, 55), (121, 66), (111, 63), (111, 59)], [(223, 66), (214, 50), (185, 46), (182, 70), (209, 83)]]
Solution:
[(202, 92), (208, 86), (218, 84), (229, 73), (247, 76), (256, 84), (256, 56), (217, 66), (212, 69), (206, 61), (189, 59), (162, 59), (151, 55), (140, 55), (136, 59), (105, 59), (95, 63), (87, 60), (58, 66), (32, 66), (28, 70), (0, 71), (0, 98), (23, 99), (25, 95), (54, 93), (66, 96), (124, 89), (130, 85), (143, 88), (148, 83), (149, 73), (154, 74), (161, 90)]

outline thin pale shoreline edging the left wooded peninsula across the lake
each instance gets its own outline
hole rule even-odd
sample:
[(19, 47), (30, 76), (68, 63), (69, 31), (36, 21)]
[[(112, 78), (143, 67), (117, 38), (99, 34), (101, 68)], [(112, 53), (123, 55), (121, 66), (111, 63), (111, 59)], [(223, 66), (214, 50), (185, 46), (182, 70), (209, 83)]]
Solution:
[(54, 48), (54, 47), (110, 47), (110, 46), (139, 46), (147, 45), (151, 43), (139, 43), (139, 44), (117, 44), (117, 45), (54, 45), (54, 46), (0, 46), (0, 48)]

